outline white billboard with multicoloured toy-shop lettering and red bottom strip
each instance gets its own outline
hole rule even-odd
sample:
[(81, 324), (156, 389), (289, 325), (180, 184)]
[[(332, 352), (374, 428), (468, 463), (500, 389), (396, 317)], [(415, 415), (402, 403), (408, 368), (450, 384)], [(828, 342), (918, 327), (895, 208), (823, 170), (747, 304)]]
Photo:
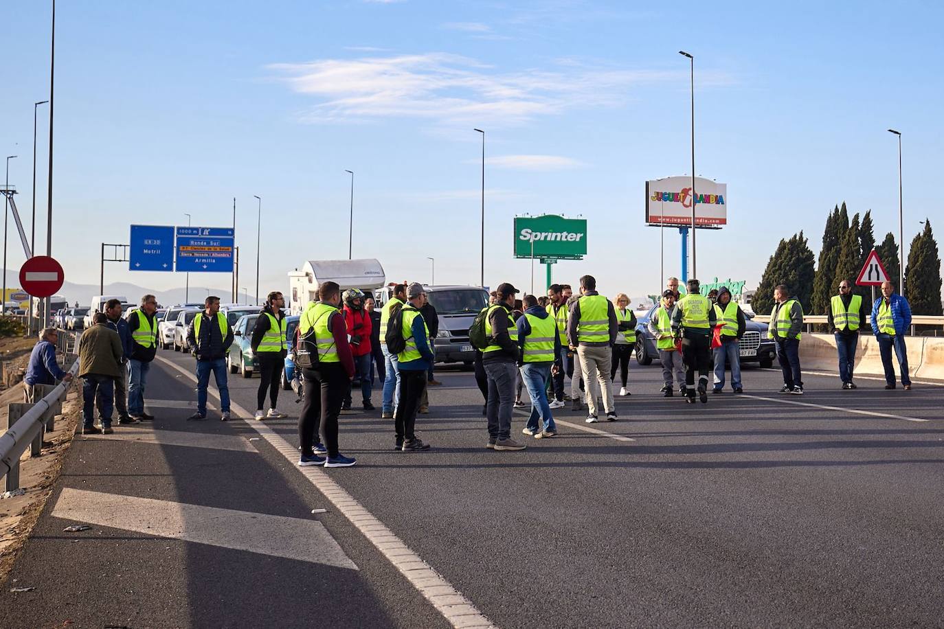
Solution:
[[(728, 224), (728, 184), (695, 177), (695, 225)], [(692, 224), (692, 178), (663, 177), (646, 182), (646, 223)]]

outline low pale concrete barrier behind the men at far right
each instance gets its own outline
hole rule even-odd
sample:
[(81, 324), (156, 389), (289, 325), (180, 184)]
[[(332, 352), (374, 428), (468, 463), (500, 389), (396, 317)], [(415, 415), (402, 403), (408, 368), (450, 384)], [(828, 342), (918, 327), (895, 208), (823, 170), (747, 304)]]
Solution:
[[(912, 378), (944, 379), (944, 339), (906, 337), (908, 367)], [(894, 352), (892, 353), (894, 356)], [(898, 360), (895, 372), (898, 372)], [(839, 372), (839, 355), (832, 334), (803, 333), (800, 342), (800, 363), (803, 369)], [(855, 372), (862, 375), (885, 375), (878, 340), (871, 334), (860, 334), (855, 351)]]

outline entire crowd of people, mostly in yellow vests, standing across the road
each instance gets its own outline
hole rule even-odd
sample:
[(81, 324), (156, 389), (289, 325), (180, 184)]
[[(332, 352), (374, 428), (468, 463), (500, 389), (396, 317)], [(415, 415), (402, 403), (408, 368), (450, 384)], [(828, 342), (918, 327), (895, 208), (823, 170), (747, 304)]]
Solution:
[[(842, 389), (856, 389), (853, 381), (856, 348), (865, 324), (867, 306), (852, 292), (848, 279), (839, 282), (838, 294), (829, 305), (827, 321), (834, 334)], [(553, 284), (547, 296), (516, 298), (512, 284), (499, 284), (489, 304), (470, 328), (475, 346), (475, 376), (484, 403), (485, 447), (499, 452), (520, 451), (527, 446), (512, 437), (515, 407), (523, 407), (522, 389), (531, 399), (531, 413), (522, 434), (547, 439), (557, 434), (553, 412), (572, 403), (586, 406), (587, 423), (618, 421), (614, 382), (620, 375), (618, 396), (629, 396), (629, 363), (637, 346), (638, 322), (625, 293), (613, 301), (600, 295), (592, 275), (580, 279), (579, 294), (569, 285)], [(767, 335), (776, 344), (776, 356), (784, 377), (784, 394), (803, 393), (800, 344), (803, 309), (789, 289), (774, 290), (775, 305)], [(257, 420), (280, 419), (278, 389), (288, 353), (284, 297), (269, 293), (256, 320), (251, 349), (260, 372)], [(141, 299), (141, 307), (127, 320), (117, 299), (94, 315), (93, 326), (79, 339), (78, 375), (82, 378), (82, 433), (110, 434), (112, 415), (117, 423), (153, 420), (144, 411), (147, 374), (156, 356), (158, 325), (154, 295)], [(870, 312), (871, 331), (878, 342), (885, 369), (885, 389), (895, 389), (892, 352), (898, 358), (903, 389), (911, 389), (905, 335), (911, 325), (907, 300), (891, 282), (882, 285), (882, 296)], [(440, 384), (432, 372), (438, 316), (419, 283), (397, 284), (380, 308), (362, 290), (342, 292), (335, 282), (324, 282), (318, 300), (300, 316), (295, 338), (296, 367), (301, 374), (304, 398), (298, 418), (298, 465), (349, 467), (356, 459), (343, 455), (338, 442), (338, 419), (351, 408), (359, 387), (364, 410), (372, 403), (374, 370), (381, 389), (381, 418), (393, 420), (394, 448), (422, 452), (430, 444), (419, 439), (418, 414), (429, 412), (429, 385)], [(743, 393), (739, 340), (746, 330), (741, 306), (725, 287), (700, 294), (700, 282), (688, 280), (681, 294), (679, 280), (669, 277), (661, 300), (645, 325), (654, 339), (662, 363), (665, 397), (678, 390), (686, 403), (708, 403), (708, 391), (720, 393), (731, 371), (731, 388)], [(57, 362), (56, 328), (42, 330), (33, 348), (24, 379), (25, 402), (36, 399), (36, 385), (69, 381)], [(196, 360), (196, 412), (191, 421), (207, 419), (211, 373), (220, 398), (220, 419), (231, 416), (228, 392), (228, 352), (233, 331), (220, 312), (218, 297), (207, 297), (204, 309), (187, 329), (188, 346)], [(305, 350), (306, 347), (310, 351)], [(307, 356), (307, 361), (302, 355)], [(569, 394), (565, 378), (570, 378)], [(268, 398), (268, 411), (264, 410)], [(98, 422), (94, 417), (98, 408)]]

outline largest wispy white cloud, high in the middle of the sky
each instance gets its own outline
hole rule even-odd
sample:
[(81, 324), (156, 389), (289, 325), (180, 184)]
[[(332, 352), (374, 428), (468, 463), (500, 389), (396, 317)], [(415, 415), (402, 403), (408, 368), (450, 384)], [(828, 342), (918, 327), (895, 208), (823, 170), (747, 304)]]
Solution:
[(447, 53), (318, 59), (270, 68), (317, 104), (303, 122), (422, 118), (437, 124), (522, 124), (572, 108), (616, 106), (644, 85), (683, 73), (568, 60), (550, 70), (501, 72)]

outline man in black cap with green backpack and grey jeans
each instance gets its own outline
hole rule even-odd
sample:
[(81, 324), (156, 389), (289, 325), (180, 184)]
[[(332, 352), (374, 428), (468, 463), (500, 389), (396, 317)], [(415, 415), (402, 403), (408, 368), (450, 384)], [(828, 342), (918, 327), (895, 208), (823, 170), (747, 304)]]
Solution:
[(485, 317), (485, 338), (489, 345), (482, 350), (482, 366), (488, 378), (488, 442), (486, 448), (497, 451), (524, 450), (512, 439), (514, 382), (517, 373), (518, 330), (512, 318), (514, 295), (518, 290), (504, 282), (496, 289), (496, 304), (488, 307)]

